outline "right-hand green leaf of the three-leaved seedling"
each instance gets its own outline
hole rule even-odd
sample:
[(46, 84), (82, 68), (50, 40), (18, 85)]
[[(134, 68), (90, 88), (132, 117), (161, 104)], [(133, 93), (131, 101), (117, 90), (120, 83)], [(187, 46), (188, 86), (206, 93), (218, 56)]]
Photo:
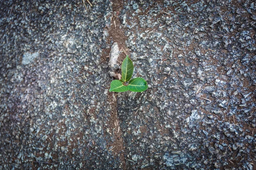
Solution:
[(128, 87), (129, 87), (129, 91), (135, 91), (135, 92), (142, 92), (148, 89), (146, 80), (140, 77), (131, 79)]

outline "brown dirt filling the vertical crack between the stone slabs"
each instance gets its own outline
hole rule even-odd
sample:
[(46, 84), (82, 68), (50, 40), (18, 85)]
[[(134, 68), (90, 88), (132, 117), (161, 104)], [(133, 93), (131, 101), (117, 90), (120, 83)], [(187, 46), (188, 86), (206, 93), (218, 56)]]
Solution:
[[(122, 2), (119, 0), (113, 0), (113, 14), (112, 14), (112, 20), (111, 20), (111, 26), (109, 28), (106, 28), (108, 30), (109, 36), (107, 37), (107, 45), (111, 46), (111, 41), (112, 42), (117, 42), (119, 50), (124, 49), (126, 54), (129, 54), (129, 50), (126, 48), (125, 45), (125, 40), (127, 40), (124, 32), (122, 31), (122, 28), (119, 26), (120, 24), (120, 19), (119, 19), (119, 13), (122, 9)], [(101, 62), (108, 62), (108, 57), (110, 54), (111, 48), (105, 48), (102, 51), (102, 57), (101, 57)], [(122, 50), (123, 51), (123, 50)], [(122, 52), (121, 55), (119, 56), (118, 59), (118, 64), (121, 65), (122, 60), (125, 59), (125, 52)], [(117, 113), (117, 102), (116, 99), (113, 98), (113, 94), (115, 95), (115, 98), (117, 98), (117, 95), (113, 92), (108, 93), (108, 102), (111, 103), (111, 117), (110, 121), (108, 122), (108, 127), (110, 130), (110, 133), (113, 135), (114, 142), (108, 142), (107, 147), (111, 149), (109, 152), (112, 152), (114, 156), (119, 156), (119, 159), (121, 160), (120, 168), (122, 170), (126, 170), (126, 162), (125, 162), (125, 156), (124, 156), (124, 144), (123, 144), (123, 139), (122, 139), (122, 127), (119, 127), (120, 119), (118, 117)], [(119, 128), (119, 132), (118, 132)], [(118, 133), (117, 133), (118, 132)]]

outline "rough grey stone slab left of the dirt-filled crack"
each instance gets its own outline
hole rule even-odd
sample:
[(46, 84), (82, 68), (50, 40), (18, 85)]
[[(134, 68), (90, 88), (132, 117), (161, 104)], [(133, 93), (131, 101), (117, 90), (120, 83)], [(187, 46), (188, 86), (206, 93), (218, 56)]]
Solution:
[(99, 65), (111, 3), (90, 11), (79, 1), (0, 6), (0, 169), (119, 164), (105, 130), (111, 79)]

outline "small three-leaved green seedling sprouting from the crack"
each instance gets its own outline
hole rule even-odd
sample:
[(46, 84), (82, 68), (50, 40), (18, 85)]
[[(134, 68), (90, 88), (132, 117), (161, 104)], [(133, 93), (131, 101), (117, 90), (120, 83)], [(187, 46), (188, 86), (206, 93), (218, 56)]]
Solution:
[(122, 79), (113, 80), (110, 84), (109, 91), (125, 92), (129, 90), (135, 92), (142, 92), (148, 89), (148, 85), (145, 79), (141, 77), (131, 79), (134, 70), (134, 65), (128, 56), (126, 56), (126, 58), (122, 62), (121, 70)]

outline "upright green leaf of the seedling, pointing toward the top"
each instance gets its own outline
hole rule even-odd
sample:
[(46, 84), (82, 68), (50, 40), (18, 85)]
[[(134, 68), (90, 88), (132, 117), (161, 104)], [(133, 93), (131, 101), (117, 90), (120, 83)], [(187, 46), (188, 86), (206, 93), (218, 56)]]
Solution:
[(121, 67), (123, 82), (128, 82), (131, 79), (131, 76), (133, 74), (133, 69), (134, 69), (134, 66), (131, 59), (128, 56), (126, 56), (126, 58), (122, 62), (122, 67)]

